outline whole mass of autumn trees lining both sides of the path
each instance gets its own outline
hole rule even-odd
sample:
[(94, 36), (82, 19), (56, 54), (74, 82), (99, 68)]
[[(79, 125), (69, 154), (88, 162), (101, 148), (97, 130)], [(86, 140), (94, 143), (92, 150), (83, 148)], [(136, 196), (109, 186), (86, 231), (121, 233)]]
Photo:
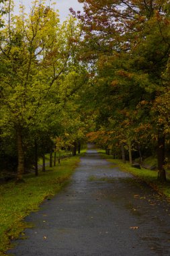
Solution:
[(90, 141), (130, 164), (170, 157), (170, 2), (79, 0), (13, 13), (1, 0), (0, 172), (17, 182), (38, 158)]

